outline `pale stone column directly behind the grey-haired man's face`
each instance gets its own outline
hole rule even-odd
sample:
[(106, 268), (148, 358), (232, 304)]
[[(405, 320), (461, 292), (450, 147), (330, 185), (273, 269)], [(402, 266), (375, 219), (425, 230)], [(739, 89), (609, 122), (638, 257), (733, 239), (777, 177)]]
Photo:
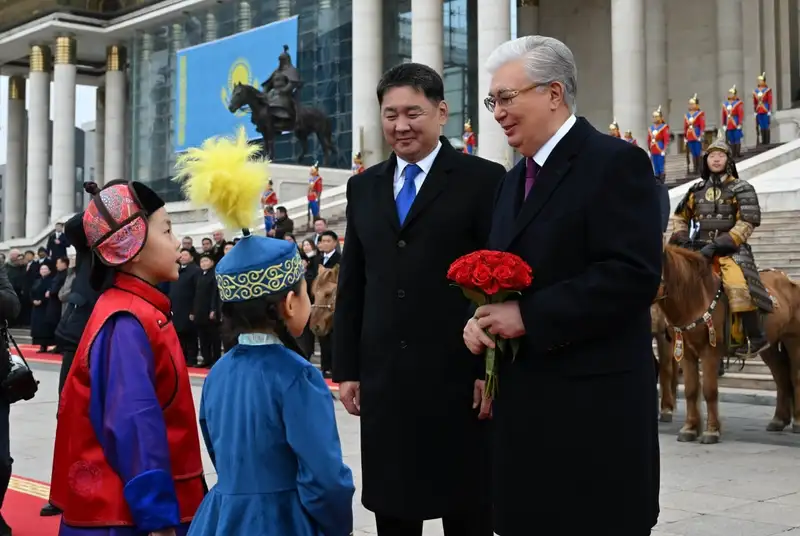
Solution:
[[(488, 160), (511, 166), (511, 148), (506, 135), (492, 112), (483, 105), (492, 77), (486, 70), (486, 60), (498, 46), (511, 38), (511, 5), (496, 0), (478, 0), (478, 125), (477, 153)], [(475, 91), (475, 90), (473, 90)]]

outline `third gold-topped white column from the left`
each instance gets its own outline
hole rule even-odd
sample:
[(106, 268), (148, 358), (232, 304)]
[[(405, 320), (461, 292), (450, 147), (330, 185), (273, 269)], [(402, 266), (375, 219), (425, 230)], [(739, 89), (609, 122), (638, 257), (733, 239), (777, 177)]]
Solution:
[(75, 212), (75, 64), (76, 41), (72, 36), (56, 38), (53, 66), (53, 184), (50, 221)]

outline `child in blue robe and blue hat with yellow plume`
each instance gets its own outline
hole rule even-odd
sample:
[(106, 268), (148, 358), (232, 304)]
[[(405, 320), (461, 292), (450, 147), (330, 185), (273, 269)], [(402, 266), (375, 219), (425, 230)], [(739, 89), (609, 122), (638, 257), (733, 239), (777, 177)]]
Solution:
[(190, 199), (245, 234), (216, 268), (225, 328), (238, 344), (203, 386), (200, 429), (218, 480), (189, 536), (347, 536), (355, 488), (333, 399), (290, 349), (311, 311), (303, 262), (295, 244), (246, 228), (268, 179), (252, 152), (240, 133), (179, 160)]

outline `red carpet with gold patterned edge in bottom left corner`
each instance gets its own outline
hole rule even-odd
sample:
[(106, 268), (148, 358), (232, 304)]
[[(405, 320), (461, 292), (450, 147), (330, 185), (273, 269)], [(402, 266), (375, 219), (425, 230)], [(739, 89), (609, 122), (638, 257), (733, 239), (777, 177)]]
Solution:
[(56, 536), (61, 516), (39, 517), (49, 486), (14, 476), (3, 504), (3, 517), (14, 536)]

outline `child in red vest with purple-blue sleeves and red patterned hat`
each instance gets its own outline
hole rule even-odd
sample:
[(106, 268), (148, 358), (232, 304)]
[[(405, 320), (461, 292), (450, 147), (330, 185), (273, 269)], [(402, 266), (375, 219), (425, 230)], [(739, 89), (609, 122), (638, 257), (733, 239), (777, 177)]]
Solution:
[(156, 286), (178, 279), (164, 201), (113, 181), (83, 216), (105, 286), (62, 392), (50, 502), (60, 536), (183, 536), (205, 494), (189, 375)]

